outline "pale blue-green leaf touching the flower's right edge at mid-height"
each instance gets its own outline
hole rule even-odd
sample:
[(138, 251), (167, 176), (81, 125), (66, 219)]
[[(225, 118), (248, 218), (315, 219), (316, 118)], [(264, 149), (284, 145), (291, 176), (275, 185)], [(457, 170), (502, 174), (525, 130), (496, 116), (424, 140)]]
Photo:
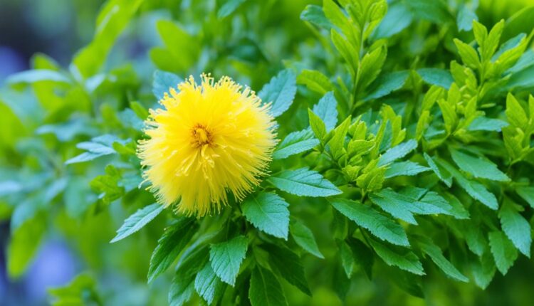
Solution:
[(310, 130), (292, 132), (278, 144), (275, 152), (273, 152), (273, 159), (285, 159), (291, 155), (313, 149), (318, 144), (319, 140), (313, 138), (313, 133)]

